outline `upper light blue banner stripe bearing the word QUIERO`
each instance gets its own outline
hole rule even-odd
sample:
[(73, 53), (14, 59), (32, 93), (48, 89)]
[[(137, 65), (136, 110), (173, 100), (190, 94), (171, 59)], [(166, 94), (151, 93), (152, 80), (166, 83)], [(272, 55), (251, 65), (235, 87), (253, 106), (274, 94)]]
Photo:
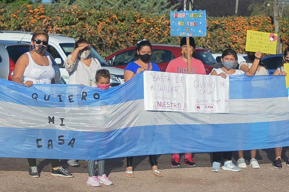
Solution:
[[(230, 76), (230, 99), (255, 99), (287, 97), (283, 76)], [(83, 92), (86, 100), (81, 100)], [(35, 98), (37, 94), (37, 100)], [(95, 95), (94, 95), (95, 94)], [(98, 98), (99, 94), (99, 99)], [(46, 97), (45, 97), (46, 95)], [(45, 101), (48, 99), (49, 101)], [(60, 96), (61, 100), (60, 102)], [(70, 99), (70, 101), (69, 101)], [(143, 73), (127, 83), (103, 91), (81, 85), (34, 85), (27, 88), (11, 81), (0, 79), (0, 101), (33, 107), (85, 107), (104, 106), (143, 99)]]

